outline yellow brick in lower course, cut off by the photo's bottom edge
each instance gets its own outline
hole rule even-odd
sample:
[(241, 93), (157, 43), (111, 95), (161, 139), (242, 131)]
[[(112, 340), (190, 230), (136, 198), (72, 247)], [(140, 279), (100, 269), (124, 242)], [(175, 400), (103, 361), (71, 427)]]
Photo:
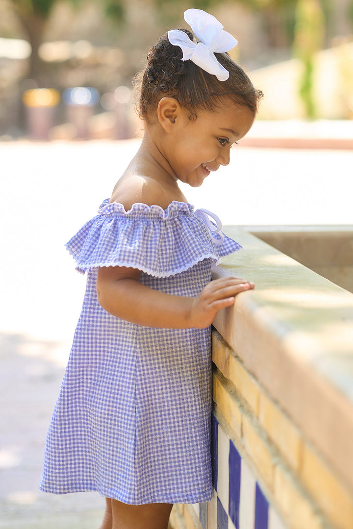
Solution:
[(321, 518), (315, 514), (305, 492), (279, 467), (275, 469), (274, 497), (279, 512), (291, 529), (323, 529)]

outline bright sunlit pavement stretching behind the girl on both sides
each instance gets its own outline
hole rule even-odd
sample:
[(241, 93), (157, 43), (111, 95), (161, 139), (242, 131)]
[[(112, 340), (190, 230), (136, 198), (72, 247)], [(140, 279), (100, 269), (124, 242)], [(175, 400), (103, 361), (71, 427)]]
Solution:
[[(0, 528), (96, 529), (95, 493), (53, 496), (38, 482), (44, 437), (85, 278), (63, 244), (111, 192), (139, 142), (0, 144)], [(236, 147), (190, 202), (224, 224), (349, 224), (351, 151)]]

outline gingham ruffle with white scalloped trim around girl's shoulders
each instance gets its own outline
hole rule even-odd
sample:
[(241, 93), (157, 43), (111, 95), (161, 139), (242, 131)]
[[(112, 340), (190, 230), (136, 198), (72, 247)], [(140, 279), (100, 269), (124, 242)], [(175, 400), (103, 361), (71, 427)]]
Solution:
[[(197, 210), (196, 210), (197, 211)], [(160, 206), (133, 204), (126, 212), (122, 204), (103, 202), (98, 215), (88, 221), (66, 244), (76, 260), (76, 270), (123, 266), (137, 268), (154, 277), (181, 273), (196, 263), (241, 248), (223, 235), (211, 234), (194, 206), (172, 202)]]

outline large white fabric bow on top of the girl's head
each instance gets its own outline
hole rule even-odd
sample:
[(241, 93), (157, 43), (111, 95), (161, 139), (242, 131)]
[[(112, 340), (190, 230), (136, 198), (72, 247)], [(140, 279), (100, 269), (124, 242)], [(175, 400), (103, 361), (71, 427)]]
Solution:
[(238, 41), (230, 33), (223, 31), (222, 24), (213, 15), (201, 9), (188, 9), (184, 13), (184, 19), (200, 42), (193, 42), (180, 30), (168, 31), (169, 42), (182, 49), (183, 61), (191, 60), (220, 81), (227, 80), (229, 71), (223, 68), (214, 53), (229, 51)]

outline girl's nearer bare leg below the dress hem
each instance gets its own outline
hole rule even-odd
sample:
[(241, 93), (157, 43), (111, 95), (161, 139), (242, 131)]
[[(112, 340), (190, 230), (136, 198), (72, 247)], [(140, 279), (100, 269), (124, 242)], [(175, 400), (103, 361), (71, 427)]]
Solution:
[(173, 504), (127, 505), (112, 499), (112, 529), (167, 529)]

